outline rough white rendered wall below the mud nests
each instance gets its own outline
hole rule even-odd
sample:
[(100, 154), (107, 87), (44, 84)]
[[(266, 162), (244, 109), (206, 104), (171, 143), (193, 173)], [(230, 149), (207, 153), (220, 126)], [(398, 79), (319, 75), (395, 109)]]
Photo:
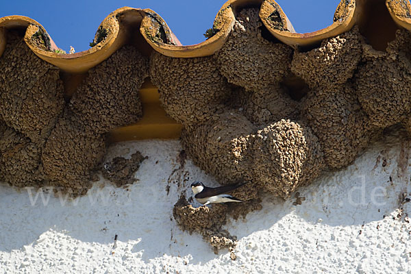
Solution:
[(0, 186), (0, 273), (411, 273), (411, 202), (400, 199), (411, 192), (411, 143), (403, 137), (301, 189), (301, 206), (264, 196), (261, 211), (226, 225), (238, 237), (236, 260), (173, 220), (180, 193), (214, 179), (189, 160), (178, 169), (177, 140), (123, 142), (108, 155), (136, 150), (149, 159), (126, 189), (101, 179), (85, 197), (62, 205), (46, 192), (47, 206), (40, 195), (32, 206), (27, 190)]

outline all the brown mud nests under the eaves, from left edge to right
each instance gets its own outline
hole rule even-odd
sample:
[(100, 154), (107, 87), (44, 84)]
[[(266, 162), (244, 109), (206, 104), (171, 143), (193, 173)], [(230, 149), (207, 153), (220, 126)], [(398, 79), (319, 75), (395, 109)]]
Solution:
[[(221, 232), (227, 212), (259, 208), (259, 192), (290, 197), (323, 170), (353, 162), (386, 127), (402, 123), (411, 132), (410, 32), (398, 30), (377, 51), (353, 27), (302, 51), (266, 40), (258, 12), (240, 11), (228, 40), (208, 57), (153, 51), (145, 58), (123, 47), (88, 72), (69, 102), (59, 70), (9, 33), (0, 58), (0, 179), (86, 192), (105, 133), (142, 116), (137, 90), (150, 76), (163, 108), (184, 125), (182, 146), (195, 164), (221, 184), (248, 182), (234, 193), (247, 203), (196, 209), (182, 197), (173, 212), (212, 246), (233, 247)], [(123, 160), (114, 162), (124, 171)], [(121, 186), (126, 173), (108, 168), (105, 176)]]

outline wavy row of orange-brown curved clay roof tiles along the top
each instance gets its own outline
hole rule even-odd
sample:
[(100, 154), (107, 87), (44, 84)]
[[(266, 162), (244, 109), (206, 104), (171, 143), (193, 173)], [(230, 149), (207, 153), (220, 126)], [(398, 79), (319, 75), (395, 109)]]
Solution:
[[(25, 42), (39, 58), (69, 73), (84, 73), (107, 59), (117, 49), (134, 36), (142, 36), (147, 43), (147, 53), (154, 49), (174, 58), (193, 58), (212, 55), (223, 47), (235, 22), (235, 14), (241, 8), (260, 7), (260, 18), (277, 39), (290, 46), (310, 46), (321, 40), (347, 32), (356, 23), (366, 20), (366, 3), (370, 0), (341, 0), (334, 14), (334, 23), (306, 34), (296, 33), (282, 8), (274, 0), (229, 0), (219, 10), (214, 19), (214, 36), (197, 45), (183, 46), (169, 29), (164, 20), (149, 9), (119, 8), (110, 13), (101, 23), (95, 36), (95, 47), (73, 54), (55, 53), (58, 49), (45, 29), (25, 16), (5, 16), (0, 18), (0, 55), (5, 48), (4, 28), (26, 27)], [(397, 25), (411, 29), (411, 5), (407, 0), (386, 0), (386, 7)], [(364, 19), (365, 18), (365, 19)], [(132, 27), (131, 27), (132, 26)], [(136, 34), (135, 29), (140, 29)], [(40, 49), (33, 42), (33, 36), (41, 32), (49, 40), (50, 49)], [(138, 38), (137, 38), (138, 39)]]

